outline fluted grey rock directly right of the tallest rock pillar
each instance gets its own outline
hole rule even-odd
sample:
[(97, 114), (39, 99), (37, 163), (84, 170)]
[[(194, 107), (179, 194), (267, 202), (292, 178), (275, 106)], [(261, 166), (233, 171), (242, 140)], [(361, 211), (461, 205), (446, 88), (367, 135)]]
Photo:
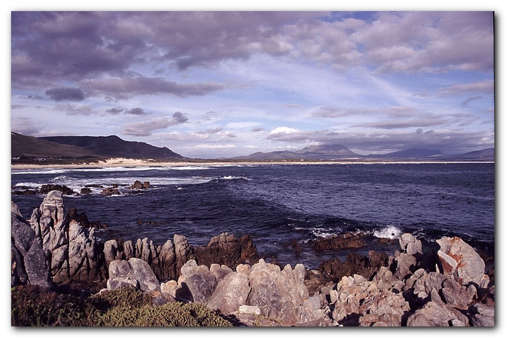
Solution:
[(104, 279), (103, 251), (95, 238), (95, 229), (85, 229), (74, 220), (69, 226), (68, 265), (73, 281)]

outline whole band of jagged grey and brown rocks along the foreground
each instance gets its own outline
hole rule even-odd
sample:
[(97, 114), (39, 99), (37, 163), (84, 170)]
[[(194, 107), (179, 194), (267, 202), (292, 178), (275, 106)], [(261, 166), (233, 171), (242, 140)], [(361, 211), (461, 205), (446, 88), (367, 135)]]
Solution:
[[(11, 286), (81, 297), (133, 287), (153, 305), (202, 303), (245, 326), (495, 325), (493, 268), (485, 273), (482, 257), (458, 237), (442, 237), (437, 251), (424, 252), (404, 233), (394, 256), (349, 254), (307, 270), (267, 263), (249, 234), (222, 233), (201, 247), (178, 234), (163, 245), (148, 238), (100, 243), (86, 221), (72, 208), (65, 212), (58, 190), (28, 220), (12, 203)], [(345, 235), (313, 247), (358, 245), (360, 238)]]

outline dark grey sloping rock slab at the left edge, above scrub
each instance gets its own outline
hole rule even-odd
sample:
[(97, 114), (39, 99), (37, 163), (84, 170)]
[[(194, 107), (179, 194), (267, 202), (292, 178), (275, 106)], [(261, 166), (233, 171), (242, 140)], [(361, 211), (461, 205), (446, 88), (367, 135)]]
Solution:
[(11, 286), (20, 284), (53, 287), (46, 254), (35, 231), (11, 202)]

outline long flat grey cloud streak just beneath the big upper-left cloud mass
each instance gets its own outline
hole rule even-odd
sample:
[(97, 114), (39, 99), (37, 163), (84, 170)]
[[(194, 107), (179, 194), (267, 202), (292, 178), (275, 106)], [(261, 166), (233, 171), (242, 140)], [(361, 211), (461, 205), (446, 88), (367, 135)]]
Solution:
[(205, 95), (225, 88), (219, 83), (176, 83), (159, 77), (112, 78), (96, 80), (87, 84), (95, 95), (104, 94), (117, 99), (130, 98), (133, 95), (173, 94), (182, 98)]

